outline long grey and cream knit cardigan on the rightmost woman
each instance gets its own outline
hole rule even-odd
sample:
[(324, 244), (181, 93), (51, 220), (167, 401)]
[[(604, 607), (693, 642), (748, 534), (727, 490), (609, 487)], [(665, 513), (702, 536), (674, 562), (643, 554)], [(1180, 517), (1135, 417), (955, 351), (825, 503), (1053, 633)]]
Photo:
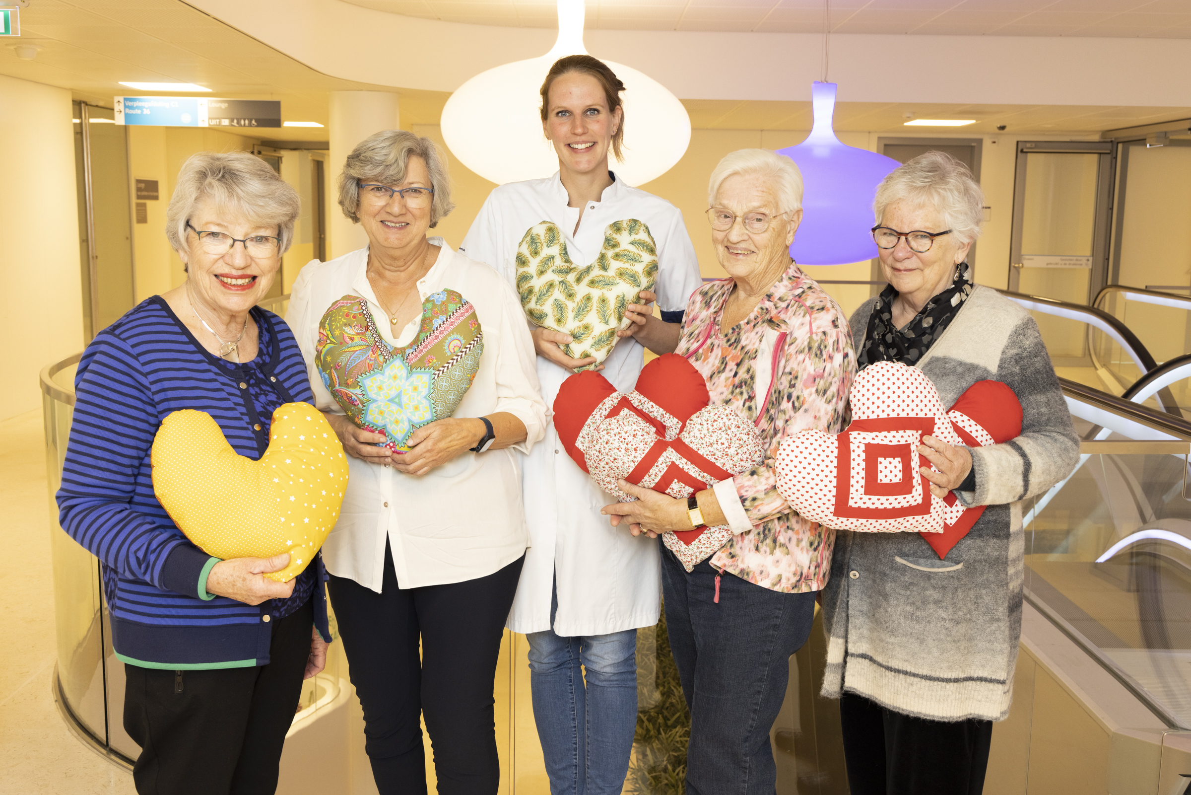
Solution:
[[(856, 349), (877, 299), (852, 316)], [(1022, 403), (1022, 435), (972, 449), (975, 491), (989, 505), (940, 560), (917, 533), (836, 534), (823, 591), (828, 633), (823, 695), (855, 692), (940, 721), (1009, 715), (1022, 629), (1023, 501), (1067, 477), (1079, 439), (1034, 318), (977, 286), (917, 365), (944, 406), (979, 380)]]

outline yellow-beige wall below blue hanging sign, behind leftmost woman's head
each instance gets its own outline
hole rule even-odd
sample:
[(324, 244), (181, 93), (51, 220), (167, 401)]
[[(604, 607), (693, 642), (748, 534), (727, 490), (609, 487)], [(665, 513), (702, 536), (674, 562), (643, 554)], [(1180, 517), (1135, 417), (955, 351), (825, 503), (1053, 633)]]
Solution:
[(256, 141), (220, 130), (188, 128), (130, 126), (129, 135), (132, 179), (157, 180), (161, 197), (145, 203), (149, 223), (132, 225), (136, 299), (139, 303), (173, 290), (186, 279), (182, 261), (166, 242), (166, 207), (182, 163), (199, 151), (248, 151)]

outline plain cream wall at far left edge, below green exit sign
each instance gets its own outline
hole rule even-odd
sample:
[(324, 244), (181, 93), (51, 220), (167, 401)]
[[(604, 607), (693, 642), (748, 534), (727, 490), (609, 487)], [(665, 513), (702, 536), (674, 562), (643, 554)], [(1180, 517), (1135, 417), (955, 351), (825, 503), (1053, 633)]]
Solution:
[(70, 92), (0, 76), (0, 420), (40, 406), (38, 373), (82, 349)]

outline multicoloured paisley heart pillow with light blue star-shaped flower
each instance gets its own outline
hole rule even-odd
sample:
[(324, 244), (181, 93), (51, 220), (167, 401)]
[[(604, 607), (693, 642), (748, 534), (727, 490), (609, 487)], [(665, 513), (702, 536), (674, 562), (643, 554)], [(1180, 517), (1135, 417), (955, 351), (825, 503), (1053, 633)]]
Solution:
[(318, 325), (314, 365), (356, 426), (409, 452), (416, 429), (455, 414), (480, 369), (484, 331), (475, 306), (454, 290), (422, 304), (418, 336), (394, 348), (376, 330), (368, 302), (344, 296)]

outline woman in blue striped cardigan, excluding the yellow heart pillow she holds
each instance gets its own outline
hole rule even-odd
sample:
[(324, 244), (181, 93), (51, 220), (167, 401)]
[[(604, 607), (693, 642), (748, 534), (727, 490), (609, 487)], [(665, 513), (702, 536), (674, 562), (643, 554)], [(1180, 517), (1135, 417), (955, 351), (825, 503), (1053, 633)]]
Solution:
[(142, 794), (275, 791), (303, 678), (326, 659), (322, 559), (282, 584), (263, 574), (287, 553), (207, 555), (157, 502), (149, 459), (177, 409), (207, 412), (258, 459), (273, 411), (312, 400), (289, 328), (256, 308), (299, 209), (247, 153), (187, 160), (166, 230), (187, 280), (96, 334), (79, 364), (57, 502), (63, 529), (101, 561)]

